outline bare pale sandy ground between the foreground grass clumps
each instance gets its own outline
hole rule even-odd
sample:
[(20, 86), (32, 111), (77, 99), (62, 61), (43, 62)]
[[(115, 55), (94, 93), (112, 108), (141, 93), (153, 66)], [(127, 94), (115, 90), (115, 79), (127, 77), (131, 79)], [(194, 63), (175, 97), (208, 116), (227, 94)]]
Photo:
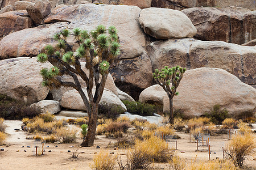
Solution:
[[(49, 147), (44, 148), (46, 150), (44, 155), (35, 156), (35, 146), (41, 146), (40, 142), (26, 139), (31, 135), (26, 135), (23, 131), (14, 131), (15, 128), (20, 129), (21, 121), (5, 121), (5, 124), (9, 126), (6, 128), (9, 137), (4, 145), (0, 145), (0, 148), (4, 149), (4, 151), (0, 151), (0, 169), (91, 169), (89, 165), (93, 164), (95, 152), (100, 152), (102, 148), (108, 150), (108, 152), (114, 152), (114, 156), (123, 155), (127, 151), (124, 149), (114, 150), (114, 147), (106, 148), (110, 142), (114, 143), (116, 140), (100, 135), (95, 140), (93, 147), (80, 147), (82, 139), (77, 139), (77, 143), (59, 144), (57, 147), (55, 147), (56, 144), (46, 143), (46, 146)], [(196, 162), (208, 160), (208, 151), (203, 151), (207, 150), (207, 146), (202, 146), (202, 143), (199, 143), (199, 151), (196, 151), (196, 143), (189, 142), (189, 134), (177, 134), (181, 137), (181, 139), (177, 140), (177, 150), (175, 150), (175, 139), (169, 139), (168, 145), (177, 155), (184, 158), (186, 163), (192, 163), (195, 159)], [(226, 142), (228, 142), (227, 134), (211, 137), (211, 160), (216, 158), (223, 159), (222, 146), (225, 146)], [(96, 146), (101, 148), (97, 149)], [(78, 152), (81, 152), (80, 155), (77, 159), (71, 158), (71, 153), (77, 149), (79, 149)], [(68, 150), (71, 153), (68, 153)], [(243, 169), (256, 169), (256, 161), (253, 159), (246, 160), (245, 165), (246, 167)], [(154, 166), (157, 167), (156, 169), (167, 169), (167, 163), (154, 164)]]

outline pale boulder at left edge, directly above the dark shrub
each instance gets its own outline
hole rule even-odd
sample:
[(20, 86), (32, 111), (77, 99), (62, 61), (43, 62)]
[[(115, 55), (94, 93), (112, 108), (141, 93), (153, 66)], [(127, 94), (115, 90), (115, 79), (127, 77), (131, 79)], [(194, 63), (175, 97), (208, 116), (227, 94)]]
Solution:
[(36, 62), (36, 57), (1, 60), (0, 93), (30, 104), (44, 100), (49, 90), (41, 86), (42, 76), (39, 72), (42, 67), (50, 66), (49, 63)]

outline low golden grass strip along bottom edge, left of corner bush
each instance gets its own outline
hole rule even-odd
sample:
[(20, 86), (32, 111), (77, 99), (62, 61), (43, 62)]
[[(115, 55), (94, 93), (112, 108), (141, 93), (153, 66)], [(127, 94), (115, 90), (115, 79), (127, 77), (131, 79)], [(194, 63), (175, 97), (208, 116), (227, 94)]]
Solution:
[(237, 170), (237, 167), (230, 161), (214, 160), (208, 163), (192, 163), (186, 167), (188, 170)]

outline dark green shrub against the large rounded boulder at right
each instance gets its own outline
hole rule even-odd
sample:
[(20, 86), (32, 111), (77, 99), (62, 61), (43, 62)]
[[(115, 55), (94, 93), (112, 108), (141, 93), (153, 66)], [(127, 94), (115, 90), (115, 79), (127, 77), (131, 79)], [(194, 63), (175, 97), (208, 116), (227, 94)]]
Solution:
[(213, 109), (209, 113), (205, 113), (204, 116), (210, 118), (210, 121), (216, 125), (221, 125), (222, 121), (230, 117), (229, 112), (226, 109), (221, 110), (218, 104), (214, 105)]

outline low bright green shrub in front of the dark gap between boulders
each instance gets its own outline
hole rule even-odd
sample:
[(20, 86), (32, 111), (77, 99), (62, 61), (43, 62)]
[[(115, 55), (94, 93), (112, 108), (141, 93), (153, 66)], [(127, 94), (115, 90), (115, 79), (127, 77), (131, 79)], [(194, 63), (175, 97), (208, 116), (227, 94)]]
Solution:
[(156, 106), (153, 104), (141, 103), (140, 101), (127, 101), (123, 100), (127, 108), (127, 112), (131, 114), (138, 114), (141, 116), (153, 116), (156, 111)]

